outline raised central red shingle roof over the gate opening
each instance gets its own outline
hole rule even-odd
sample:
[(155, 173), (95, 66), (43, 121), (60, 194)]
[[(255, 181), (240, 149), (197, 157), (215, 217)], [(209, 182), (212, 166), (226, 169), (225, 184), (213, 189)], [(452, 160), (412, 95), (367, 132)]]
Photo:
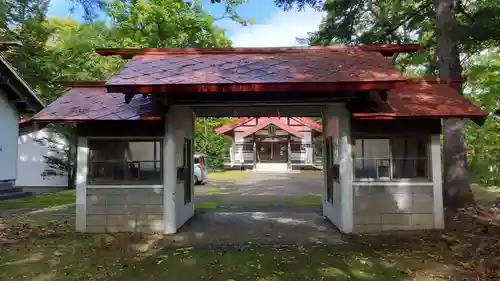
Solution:
[(378, 52), (359, 47), (271, 52), (136, 55), (106, 83), (111, 92), (331, 92), (394, 88), (406, 80)]

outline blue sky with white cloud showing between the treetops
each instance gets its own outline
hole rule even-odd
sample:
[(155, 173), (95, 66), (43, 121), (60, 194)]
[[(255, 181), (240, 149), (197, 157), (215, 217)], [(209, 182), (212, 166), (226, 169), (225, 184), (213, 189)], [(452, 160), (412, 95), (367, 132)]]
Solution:
[[(312, 9), (284, 12), (273, 4), (273, 0), (249, 0), (238, 7), (238, 14), (244, 18), (253, 17), (255, 23), (241, 26), (230, 20), (220, 20), (218, 25), (226, 29), (226, 35), (235, 47), (287, 47), (296, 46), (296, 37), (304, 37), (308, 32), (317, 30), (323, 12)], [(222, 4), (211, 4), (202, 0), (203, 8), (220, 16)], [(66, 0), (51, 0), (48, 16), (66, 17), (70, 14), (71, 4)], [(76, 8), (71, 18), (82, 20), (83, 10)]]

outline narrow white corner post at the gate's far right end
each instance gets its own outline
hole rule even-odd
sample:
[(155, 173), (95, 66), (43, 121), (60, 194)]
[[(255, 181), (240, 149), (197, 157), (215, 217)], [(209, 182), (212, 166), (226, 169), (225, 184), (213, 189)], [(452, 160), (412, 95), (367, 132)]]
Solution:
[(432, 191), (434, 202), (434, 228), (444, 228), (443, 173), (441, 171), (441, 138), (431, 136)]

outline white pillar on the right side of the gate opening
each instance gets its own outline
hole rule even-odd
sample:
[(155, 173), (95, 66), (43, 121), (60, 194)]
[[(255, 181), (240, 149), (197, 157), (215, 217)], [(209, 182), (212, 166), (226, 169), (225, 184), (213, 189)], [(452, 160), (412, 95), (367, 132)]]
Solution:
[(351, 148), (351, 114), (345, 107), (339, 110), (339, 172), (341, 188), (341, 231), (353, 230), (353, 161)]

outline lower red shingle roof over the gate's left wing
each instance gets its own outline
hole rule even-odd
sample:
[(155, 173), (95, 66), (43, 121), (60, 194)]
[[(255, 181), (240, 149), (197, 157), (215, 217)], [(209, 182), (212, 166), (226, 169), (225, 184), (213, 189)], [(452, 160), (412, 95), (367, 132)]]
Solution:
[(101, 82), (73, 84), (75, 88), (56, 99), (30, 120), (23, 122), (161, 119), (161, 115), (152, 113), (151, 96), (144, 98), (142, 95), (137, 95), (126, 104), (123, 94), (108, 93), (102, 84)]

